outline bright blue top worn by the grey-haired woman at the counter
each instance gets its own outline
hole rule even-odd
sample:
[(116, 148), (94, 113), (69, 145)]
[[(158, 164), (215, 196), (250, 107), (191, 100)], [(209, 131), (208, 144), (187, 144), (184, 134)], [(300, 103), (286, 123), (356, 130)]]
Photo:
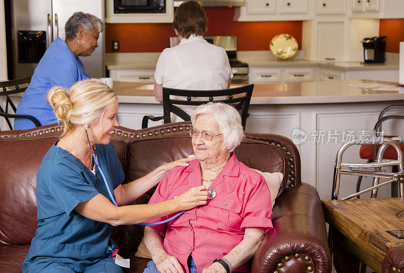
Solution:
[[(74, 83), (88, 80), (87, 72), (79, 57), (74, 56), (61, 38), (46, 49), (34, 71), (31, 82), (20, 100), (16, 114), (36, 117), (41, 125), (58, 122), (52, 107), (46, 103), (46, 95), (54, 86), (69, 89)], [(14, 129), (34, 128), (35, 124), (26, 118), (16, 118)]]

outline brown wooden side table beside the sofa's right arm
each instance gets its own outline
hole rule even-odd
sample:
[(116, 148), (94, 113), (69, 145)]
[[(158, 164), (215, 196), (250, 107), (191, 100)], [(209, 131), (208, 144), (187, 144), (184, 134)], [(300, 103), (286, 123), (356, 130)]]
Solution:
[[(322, 200), (326, 222), (346, 249), (376, 272), (390, 249), (404, 246), (387, 230), (404, 230), (404, 198)], [(342, 236), (341, 236), (342, 235)]]

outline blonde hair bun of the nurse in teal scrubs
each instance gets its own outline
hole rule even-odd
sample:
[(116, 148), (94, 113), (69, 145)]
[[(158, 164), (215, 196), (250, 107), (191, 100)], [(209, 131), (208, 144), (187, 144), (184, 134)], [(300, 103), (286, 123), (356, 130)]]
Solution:
[(47, 93), (46, 102), (54, 109), (57, 119), (64, 123), (70, 121), (73, 104), (63, 87), (52, 87)]

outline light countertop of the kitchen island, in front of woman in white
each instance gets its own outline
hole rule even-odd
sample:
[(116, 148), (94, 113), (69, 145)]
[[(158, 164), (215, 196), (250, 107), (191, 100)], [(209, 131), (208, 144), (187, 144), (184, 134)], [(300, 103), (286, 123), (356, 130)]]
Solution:
[[(250, 104), (322, 104), (404, 100), (402, 91), (374, 90), (370, 86), (397, 83), (369, 80), (323, 81), (281, 84), (256, 84)], [(242, 85), (232, 85), (237, 87)], [(360, 87), (362, 86), (362, 87)], [(158, 104), (153, 95), (153, 84), (114, 82), (120, 103)]]

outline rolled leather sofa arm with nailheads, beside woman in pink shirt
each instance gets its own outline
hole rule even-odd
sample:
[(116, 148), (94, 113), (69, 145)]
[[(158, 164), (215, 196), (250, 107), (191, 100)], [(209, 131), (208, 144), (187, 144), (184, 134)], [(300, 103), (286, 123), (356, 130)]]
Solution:
[(287, 188), (275, 201), (272, 224), (254, 256), (252, 273), (331, 272), (323, 208), (313, 186)]

